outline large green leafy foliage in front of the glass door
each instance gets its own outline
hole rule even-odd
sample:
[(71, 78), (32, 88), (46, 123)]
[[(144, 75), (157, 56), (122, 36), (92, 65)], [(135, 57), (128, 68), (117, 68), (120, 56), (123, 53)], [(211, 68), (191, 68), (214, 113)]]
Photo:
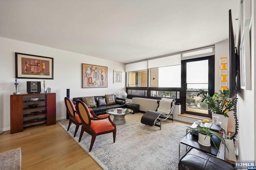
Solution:
[(214, 93), (213, 96), (208, 95), (207, 91), (200, 90), (197, 96), (202, 96), (201, 102), (206, 102), (211, 113), (216, 113), (228, 117), (227, 112), (234, 110), (236, 98), (229, 98), (228, 89), (220, 90), (220, 93)]

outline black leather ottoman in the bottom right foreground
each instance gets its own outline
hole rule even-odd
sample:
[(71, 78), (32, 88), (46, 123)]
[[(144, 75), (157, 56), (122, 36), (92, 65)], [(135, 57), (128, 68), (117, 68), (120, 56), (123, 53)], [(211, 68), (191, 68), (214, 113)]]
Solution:
[(234, 170), (234, 164), (197, 149), (190, 149), (179, 161), (179, 170)]

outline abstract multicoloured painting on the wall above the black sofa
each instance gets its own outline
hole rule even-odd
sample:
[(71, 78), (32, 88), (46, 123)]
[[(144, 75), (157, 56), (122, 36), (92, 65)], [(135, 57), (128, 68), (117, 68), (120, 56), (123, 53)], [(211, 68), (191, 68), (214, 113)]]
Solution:
[(108, 87), (108, 67), (82, 64), (82, 88)]

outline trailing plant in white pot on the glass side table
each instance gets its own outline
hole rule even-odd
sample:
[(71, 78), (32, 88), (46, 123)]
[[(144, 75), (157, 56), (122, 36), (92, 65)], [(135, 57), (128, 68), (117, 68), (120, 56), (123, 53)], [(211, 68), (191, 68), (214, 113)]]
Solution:
[(220, 135), (220, 133), (212, 131), (211, 130), (212, 126), (205, 127), (204, 124), (202, 123), (202, 121), (197, 121), (196, 124), (197, 124), (197, 127), (189, 127), (186, 135), (187, 134), (193, 135), (195, 132), (198, 132), (198, 143), (200, 145), (210, 147), (211, 146), (211, 141), (212, 141), (212, 143), (216, 147), (216, 149), (219, 150), (218, 147), (216, 146), (216, 144), (214, 143), (213, 139), (212, 139), (212, 136), (216, 136), (220, 141), (222, 141), (222, 143), (224, 144), (224, 146), (228, 150), (228, 147), (225, 143), (225, 138), (222, 137), (222, 135)]

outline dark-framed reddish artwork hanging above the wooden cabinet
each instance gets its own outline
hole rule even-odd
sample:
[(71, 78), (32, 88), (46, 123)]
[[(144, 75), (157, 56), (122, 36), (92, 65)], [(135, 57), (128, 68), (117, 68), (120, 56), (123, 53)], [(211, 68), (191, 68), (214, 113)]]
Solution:
[(15, 53), (16, 78), (53, 79), (53, 58)]

